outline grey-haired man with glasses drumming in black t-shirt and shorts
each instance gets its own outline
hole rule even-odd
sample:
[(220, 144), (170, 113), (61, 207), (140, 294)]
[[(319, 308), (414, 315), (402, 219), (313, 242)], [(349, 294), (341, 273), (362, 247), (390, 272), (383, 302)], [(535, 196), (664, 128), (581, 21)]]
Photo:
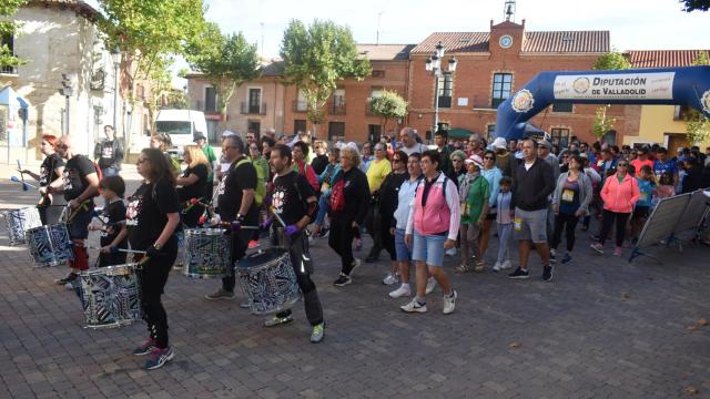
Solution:
[[(222, 155), (230, 162), (230, 168), (217, 186), (217, 214), (221, 222), (230, 222), (232, 225), (232, 265), (244, 257), (248, 241), (253, 236), (252, 231), (241, 229), (241, 226), (255, 226), (258, 223), (258, 209), (254, 202), (256, 170), (244, 154), (245, 146), (240, 136), (231, 135), (222, 142)], [(234, 273), (230, 273), (230, 276), (222, 278), (222, 287), (205, 295), (205, 299), (234, 299), (235, 282)], [(240, 306), (246, 308), (250, 304), (245, 301)]]

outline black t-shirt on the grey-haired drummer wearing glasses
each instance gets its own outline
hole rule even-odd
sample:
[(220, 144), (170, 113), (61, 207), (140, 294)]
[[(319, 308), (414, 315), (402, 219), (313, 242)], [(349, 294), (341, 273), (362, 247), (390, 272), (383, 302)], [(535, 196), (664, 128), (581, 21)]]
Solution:
[[(219, 213), (223, 222), (232, 222), (236, 218), (236, 214), (242, 206), (242, 191), (256, 190), (256, 170), (251, 162), (242, 162), (241, 157), (230, 165), (229, 171), (222, 177), (222, 182), (217, 186), (219, 193)], [(256, 203), (252, 202), (248, 212), (245, 215), (244, 223), (255, 225), (258, 221), (258, 211)]]

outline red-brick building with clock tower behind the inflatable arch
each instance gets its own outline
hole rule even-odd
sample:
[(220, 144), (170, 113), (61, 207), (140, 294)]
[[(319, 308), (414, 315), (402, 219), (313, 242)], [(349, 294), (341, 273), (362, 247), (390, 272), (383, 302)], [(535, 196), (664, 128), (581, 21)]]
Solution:
[[(456, 71), (439, 78), (439, 124), (484, 135), (495, 129), (498, 104), (538, 72), (590, 70), (610, 50), (608, 31), (528, 32), (525, 20), (520, 24), (491, 21), (489, 32), (432, 33), (409, 57), (409, 123), (419, 132), (433, 126), (435, 78), (425, 63), (439, 42), (446, 51), (443, 64), (457, 59)], [(591, 142), (597, 108), (557, 103), (530, 122), (562, 144), (575, 136)], [(607, 113), (617, 117), (617, 135), (638, 131), (638, 106), (609, 108)]]

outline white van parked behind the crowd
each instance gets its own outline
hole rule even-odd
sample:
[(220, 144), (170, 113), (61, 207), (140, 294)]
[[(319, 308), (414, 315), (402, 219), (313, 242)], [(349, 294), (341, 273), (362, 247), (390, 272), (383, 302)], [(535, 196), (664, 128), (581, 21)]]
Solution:
[(170, 134), (173, 147), (169, 152), (182, 157), (184, 146), (193, 144), (197, 133), (207, 136), (207, 122), (201, 111), (160, 110), (155, 119), (155, 132)]

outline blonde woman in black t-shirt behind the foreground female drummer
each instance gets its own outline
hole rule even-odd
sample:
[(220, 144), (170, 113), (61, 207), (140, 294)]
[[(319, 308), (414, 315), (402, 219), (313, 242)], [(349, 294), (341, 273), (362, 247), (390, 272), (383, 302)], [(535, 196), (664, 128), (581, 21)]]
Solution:
[(204, 206), (192, 205), (192, 200), (207, 203), (212, 198), (204, 198), (210, 175), (210, 162), (204, 156), (202, 149), (196, 145), (185, 145), (183, 160), (187, 164), (185, 171), (178, 177), (178, 195), (182, 207), (182, 222), (187, 227), (197, 227), (200, 216), (204, 213)]

